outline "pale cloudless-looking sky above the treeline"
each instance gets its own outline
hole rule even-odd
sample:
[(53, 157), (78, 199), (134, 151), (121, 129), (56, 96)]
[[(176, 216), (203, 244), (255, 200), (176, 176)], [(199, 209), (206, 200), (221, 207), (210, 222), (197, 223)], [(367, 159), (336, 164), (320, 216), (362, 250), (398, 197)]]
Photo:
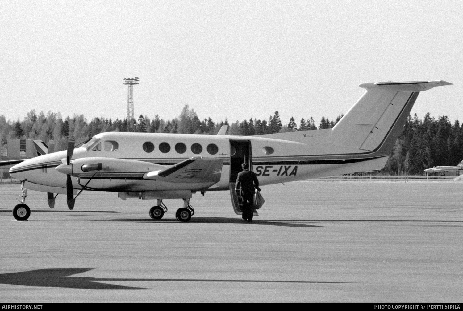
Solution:
[(422, 118), (463, 121), (463, 1), (6, 1), (0, 115), (330, 120), (358, 84), (442, 79)]

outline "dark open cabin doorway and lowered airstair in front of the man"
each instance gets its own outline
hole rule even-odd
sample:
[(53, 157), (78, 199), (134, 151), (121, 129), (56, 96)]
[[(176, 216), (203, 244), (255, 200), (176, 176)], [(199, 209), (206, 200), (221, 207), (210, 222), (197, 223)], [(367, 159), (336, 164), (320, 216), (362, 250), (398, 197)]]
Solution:
[[(249, 170), (252, 168), (252, 148), (250, 140), (230, 140), (230, 196), (232, 197), (233, 210), (237, 215), (243, 214), (243, 198), (238, 196), (235, 191), (236, 178), (238, 173), (243, 171), (241, 165), (246, 162), (249, 164)], [(259, 216), (254, 210), (254, 216)]]

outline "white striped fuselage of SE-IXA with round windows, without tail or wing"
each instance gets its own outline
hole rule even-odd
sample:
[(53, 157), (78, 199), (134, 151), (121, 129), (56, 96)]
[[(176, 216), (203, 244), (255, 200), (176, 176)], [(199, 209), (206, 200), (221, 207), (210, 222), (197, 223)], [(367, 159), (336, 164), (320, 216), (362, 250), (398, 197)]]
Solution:
[[(88, 190), (143, 192), (150, 190), (191, 189), (210, 191), (229, 189), (236, 180), (243, 162), (250, 162), (261, 185), (284, 183), (307, 178), (332, 176), (356, 171), (381, 169), (387, 156), (346, 153), (330, 154), (332, 146), (317, 143), (317, 134), (326, 130), (310, 131), (307, 143), (263, 138), (259, 136), (158, 134), (158, 133), (101, 133), (87, 144), (75, 148), (72, 162), (101, 162), (102, 171), (83, 172), (74, 165), (74, 189), (87, 184)], [(329, 130), (328, 130), (329, 131)], [(302, 132), (301, 132), (302, 133)], [(301, 134), (302, 135), (302, 134)], [(357, 150), (358, 152), (358, 150)], [(168, 183), (146, 180), (144, 174), (174, 165), (191, 157), (223, 159), (221, 177), (213, 185)], [(14, 178), (26, 180), (39, 191), (65, 193), (66, 175), (56, 171), (63, 163), (66, 151), (54, 152), (28, 159), (15, 165), (10, 172)], [(96, 159), (99, 158), (99, 159)], [(122, 161), (118, 161), (118, 159)], [(130, 161), (131, 160), (131, 161)], [(238, 164), (238, 165), (237, 165)], [(234, 175), (233, 175), (234, 174)], [(41, 185), (36, 187), (35, 185)], [(48, 189), (44, 187), (61, 188)]]

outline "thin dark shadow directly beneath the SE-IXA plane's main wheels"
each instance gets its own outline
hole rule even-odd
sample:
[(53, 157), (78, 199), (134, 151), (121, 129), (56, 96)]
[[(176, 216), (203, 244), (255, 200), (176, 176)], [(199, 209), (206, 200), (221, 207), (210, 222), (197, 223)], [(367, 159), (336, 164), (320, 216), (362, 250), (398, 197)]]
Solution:
[[(184, 222), (179, 222), (175, 219), (102, 219), (102, 220), (82, 220), (82, 221), (114, 221), (114, 222), (149, 222), (149, 223), (176, 223), (176, 224), (185, 224)], [(323, 228), (324, 226), (300, 224), (296, 222), (307, 222), (307, 220), (252, 220), (252, 223), (244, 222), (241, 218), (227, 218), (227, 217), (192, 217), (189, 223), (198, 223), (198, 224), (243, 224), (248, 226), (284, 226), (284, 227), (318, 227)]]

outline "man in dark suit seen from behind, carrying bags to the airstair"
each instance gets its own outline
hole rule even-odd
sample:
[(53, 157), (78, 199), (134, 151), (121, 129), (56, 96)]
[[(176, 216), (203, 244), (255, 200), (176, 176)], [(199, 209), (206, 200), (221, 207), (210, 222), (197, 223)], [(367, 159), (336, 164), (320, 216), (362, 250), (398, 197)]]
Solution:
[(252, 222), (252, 216), (254, 216), (254, 188), (260, 191), (259, 181), (256, 174), (249, 171), (247, 163), (243, 163), (241, 168), (243, 168), (243, 171), (238, 173), (235, 191), (239, 193), (241, 189), (241, 196), (243, 197), (243, 220)]

